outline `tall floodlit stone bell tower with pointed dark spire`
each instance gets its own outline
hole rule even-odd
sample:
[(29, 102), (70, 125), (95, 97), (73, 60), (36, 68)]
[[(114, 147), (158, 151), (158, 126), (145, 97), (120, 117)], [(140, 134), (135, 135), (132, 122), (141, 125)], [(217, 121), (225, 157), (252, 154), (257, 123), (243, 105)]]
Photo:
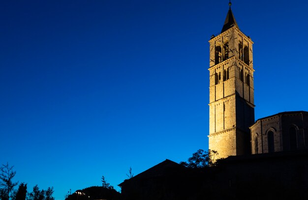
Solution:
[(209, 149), (219, 158), (250, 154), (254, 123), (252, 44), (230, 9), (221, 33), (210, 39)]

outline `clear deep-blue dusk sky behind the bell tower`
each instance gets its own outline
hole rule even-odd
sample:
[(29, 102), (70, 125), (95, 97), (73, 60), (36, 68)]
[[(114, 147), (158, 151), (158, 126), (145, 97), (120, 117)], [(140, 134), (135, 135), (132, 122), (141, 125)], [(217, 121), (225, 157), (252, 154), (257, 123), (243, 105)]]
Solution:
[[(208, 40), (228, 2), (1, 0), (0, 164), (61, 200), (208, 149)], [(308, 1), (232, 3), (255, 118), (308, 111)]]

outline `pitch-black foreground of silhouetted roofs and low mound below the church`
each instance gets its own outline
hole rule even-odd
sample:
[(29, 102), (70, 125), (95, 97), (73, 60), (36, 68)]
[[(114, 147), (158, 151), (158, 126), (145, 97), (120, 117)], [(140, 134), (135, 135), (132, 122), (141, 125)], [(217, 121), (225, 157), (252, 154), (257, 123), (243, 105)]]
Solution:
[(308, 199), (308, 150), (231, 156), (185, 167), (165, 160), (114, 189), (90, 187), (66, 200)]

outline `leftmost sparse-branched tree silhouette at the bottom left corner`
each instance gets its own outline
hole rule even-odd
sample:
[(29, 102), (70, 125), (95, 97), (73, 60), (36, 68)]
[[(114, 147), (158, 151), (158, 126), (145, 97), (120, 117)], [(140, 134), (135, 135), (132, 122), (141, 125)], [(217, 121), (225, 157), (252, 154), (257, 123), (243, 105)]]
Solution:
[(9, 200), (10, 193), (18, 182), (13, 182), (16, 171), (13, 170), (14, 166), (9, 166), (8, 163), (0, 167), (0, 186), (3, 188), (0, 191), (2, 200)]

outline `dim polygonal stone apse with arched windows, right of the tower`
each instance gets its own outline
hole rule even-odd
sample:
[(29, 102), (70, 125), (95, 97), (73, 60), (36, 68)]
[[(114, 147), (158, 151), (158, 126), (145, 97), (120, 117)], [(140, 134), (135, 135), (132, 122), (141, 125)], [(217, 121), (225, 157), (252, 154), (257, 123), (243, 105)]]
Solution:
[(308, 112), (292, 111), (258, 119), (252, 126), (252, 154), (308, 149)]

